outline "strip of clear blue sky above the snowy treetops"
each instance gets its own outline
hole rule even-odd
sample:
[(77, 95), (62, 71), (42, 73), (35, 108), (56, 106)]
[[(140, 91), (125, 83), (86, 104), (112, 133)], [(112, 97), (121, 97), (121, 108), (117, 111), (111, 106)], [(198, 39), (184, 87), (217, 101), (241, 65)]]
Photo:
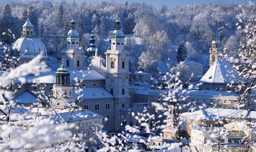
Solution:
[[(61, 1), (61, 0), (55, 0)], [(80, 4), (86, 1), (86, 3), (101, 3), (104, 2), (115, 2), (125, 4), (127, 1), (129, 3), (146, 3), (147, 5), (152, 5), (154, 8), (159, 9), (161, 5), (165, 4), (168, 8), (175, 8), (176, 6), (184, 6), (188, 4), (209, 4), (209, 3), (217, 3), (223, 1), (225, 3), (238, 3), (238, 4), (247, 4), (248, 0), (75, 0), (76, 3)], [(73, 0), (66, 0), (66, 2), (73, 2)], [(251, 0), (251, 2), (255, 3), (256, 0)]]

